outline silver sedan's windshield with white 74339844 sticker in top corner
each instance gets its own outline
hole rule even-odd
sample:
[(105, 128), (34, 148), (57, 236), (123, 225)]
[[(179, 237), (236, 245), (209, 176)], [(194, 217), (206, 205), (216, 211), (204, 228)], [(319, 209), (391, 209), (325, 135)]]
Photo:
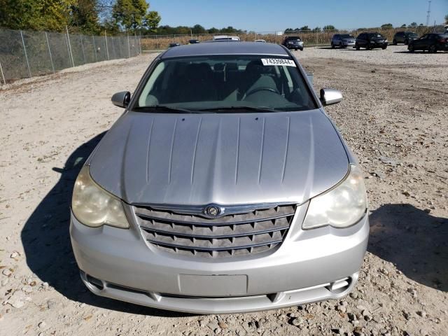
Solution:
[(136, 111), (162, 106), (183, 112), (317, 108), (293, 59), (269, 55), (162, 60), (144, 85)]

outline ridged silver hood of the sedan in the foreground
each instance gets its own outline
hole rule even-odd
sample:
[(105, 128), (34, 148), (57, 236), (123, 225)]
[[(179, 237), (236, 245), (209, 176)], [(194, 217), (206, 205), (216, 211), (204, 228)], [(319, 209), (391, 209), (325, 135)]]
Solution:
[(349, 159), (321, 110), (123, 114), (90, 160), (130, 204), (302, 203), (341, 181)]

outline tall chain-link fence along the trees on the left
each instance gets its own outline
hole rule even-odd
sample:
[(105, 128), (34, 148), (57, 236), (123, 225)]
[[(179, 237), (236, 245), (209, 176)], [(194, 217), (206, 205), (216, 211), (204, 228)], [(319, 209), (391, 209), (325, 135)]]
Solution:
[(140, 53), (139, 36), (90, 36), (0, 28), (0, 83)]

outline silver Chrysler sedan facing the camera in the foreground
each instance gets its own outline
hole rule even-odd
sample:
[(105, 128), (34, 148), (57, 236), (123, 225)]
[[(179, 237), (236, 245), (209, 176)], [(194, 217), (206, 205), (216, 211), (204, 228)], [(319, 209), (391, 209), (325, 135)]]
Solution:
[[(94, 294), (196, 314), (339, 299), (369, 235), (364, 176), (274, 43), (158, 55), (80, 170), (71, 244)], [(72, 279), (64, 279), (71, 281)]]

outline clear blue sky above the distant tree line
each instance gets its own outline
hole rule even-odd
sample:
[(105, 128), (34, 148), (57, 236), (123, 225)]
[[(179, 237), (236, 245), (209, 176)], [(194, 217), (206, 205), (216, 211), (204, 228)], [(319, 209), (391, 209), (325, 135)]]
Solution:
[[(426, 24), (427, 0), (148, 0), (162, 16), (160, 25), (280, 31), (308, 25), (336, 28)], [(442, 23), (448, 0), (432, 0), (430, 24)]]

